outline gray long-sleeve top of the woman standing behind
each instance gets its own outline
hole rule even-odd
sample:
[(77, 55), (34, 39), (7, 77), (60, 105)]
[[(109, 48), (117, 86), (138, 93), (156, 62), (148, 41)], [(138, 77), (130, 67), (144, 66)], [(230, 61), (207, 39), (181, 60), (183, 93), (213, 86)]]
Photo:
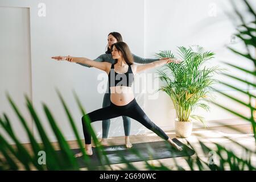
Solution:
[[(152, 63), (154, 61), (158, 61), (159, 59), (144, 59), (142, 57), (136, 56), (133, 54), (133, 59), (135, 63), (139, 63), (139, 64), (147, 64), (147, 63)], [(96, 59), (94, 59), (94, 61), (98, 61), (98, 62), (108, 62), (113, 64), (115, 62), (115, 60), (112, 58), (112, 54), (111, 53), (104, 53), (103, 55), (98, 56)], [(84, 67), (88, 67), (90, 68), (91, 66), (88, 64), (82, 64), (82, 63), (77, 63), (80, 64)]]

